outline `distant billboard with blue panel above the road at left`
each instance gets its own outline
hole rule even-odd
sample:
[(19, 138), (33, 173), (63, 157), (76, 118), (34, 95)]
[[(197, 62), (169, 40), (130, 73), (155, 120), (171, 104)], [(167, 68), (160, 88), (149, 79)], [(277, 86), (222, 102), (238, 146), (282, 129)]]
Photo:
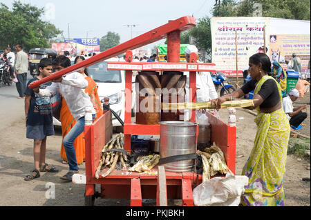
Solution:
[(88, 54), (100, 52), (100, 39), (79, 38), (67, 39), (64, 43), (52, 43), (52, 49), (57, 52), (67, 50), (70, 54)]

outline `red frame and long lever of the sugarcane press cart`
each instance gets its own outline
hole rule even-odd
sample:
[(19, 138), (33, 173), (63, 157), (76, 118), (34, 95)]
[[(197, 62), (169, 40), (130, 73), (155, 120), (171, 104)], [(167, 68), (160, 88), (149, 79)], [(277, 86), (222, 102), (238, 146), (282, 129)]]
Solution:
[[(182, 17), (175, 21), (169, 21), (167, 25), (156, 28), (151, 32), (140, 35), (131, 41), (122, 43), (120, 46), (111, 48), (98, 54), (95, 57), (87, 59), (81, 63), (77, 63), (71, 68), (66, 68), (60, 72), (51, 75), (50, 77), (44, 78), (45, 81), (37, 81), (36, 84), (32, 84), (32, 88), (35, 88), (42, 83), (46, 83), (52, 79), (57, 79), (64, 74), (73, 72), (84, 66), (91, 66), (103, 59), (113, 57), (116, 54), (120, 54), (127, 49), (134, 49), (140, 46), (147, 45), (164, 37), (168, 38), (168, 61), (167, 65), (173, 64), (179, 61), (179, 48), (180, 45), (180, 31), (187, 30), (195, 26), (195, 21), (193, 17)], [(178, 57), (178, 60), (177, 60)], [(131, 51), (126, 52), (126, 64), (134, 65), (131, 63), (133, 59), (133, 54)], [(173, 62), (173, 63), (171, 63)], [(149, 63), (142, 63), (149, 64)], [(156, 63), (153, 63), (156, 64)], [(163, 64), (163, 63), (160, 63)], [(180, 63), (178, 63), (180, 64)], [(187, 66), (190, 74), (190, 88), (191, 97), (190, 101), (196, 102), (196, 71), (193, 66), (198, 66), (196, 63), (196, 54), (190, 55), (191, 66)], [(200, 63), (203, 66), (208, 63)], [(209, 66), (213, 66), (209, 63)], [(190, 67), (190, 68), (189, 68)], [(124, 148), (131, 151), (131, 134), (160, 134), (160, 126), (147, 126), (147, 125), (137, 125), (131, 122), (131, 68), (126, 69), (126, 102), (125, 102), (125, 119), (124, 119)], [(153, 71), (155, 69), (153, 68)], [(156, 69), (163, 70), (163, 68)], [(170, 69), (172, 70), (172, 69)], [(178, 68), (176, 69), (178, 70)], [(181, 70), (181, 71), (187, 71)], [(192, 71), (191, 71), (192, 70)], [(202, 70), (204, 71), (204, 70)], [(192, 111), (191, 121), (195, 121), (195, 111)], [(207, 113), (209, 117), (209, 122), (211, 123), (211, 140), (215, 141), (216, 144), (223, 150), (225, 154), (225, 159), (227, 164), (235, 172), (235, 150), (236, 150), (236, 128), (231, 128), (227, 126), (226, 123), (217, 119), (213, 115)], [(85, 148), (86, 148), (86, 196), (93, 196), (95, 194), (95, 184), (101, 185), (101, 195), (102, 198), (110, 199), (131, 199), (131, 206), (142, 206), (142, 198), (146, 199), (157, 199), (157, 186), (158, 186), (158, 175), (157, 174), (144, 174), (138, 172), (126, 172), (113, 170), (111, 174), (105, 178), (100, 176), (100, 179), (95, 178), (95, 170), (100, 163), (100, 157), (102, 155), (102, 148), (105, 143), (111, 139), (112, 136), (112, 124), (111, 124), (111, 112), (104, 112), (102, 117), (98, 119), (91, 126), (86, 126), (85, 128)], [(157, 172), (158, 166), (153, 168), (153, 172)], [(106, 170), (102, 170), (101, 174)], [(167, 199), (182, 199), (182, 206), (194, 206), (194, 201), (192, 197), (192, 189), (202, 182), (202, 175), (198, 175), (195, 172), (165, 172), (165, 181), (167, 185)], [(157, 201), (158, 204), (158, 201)]]

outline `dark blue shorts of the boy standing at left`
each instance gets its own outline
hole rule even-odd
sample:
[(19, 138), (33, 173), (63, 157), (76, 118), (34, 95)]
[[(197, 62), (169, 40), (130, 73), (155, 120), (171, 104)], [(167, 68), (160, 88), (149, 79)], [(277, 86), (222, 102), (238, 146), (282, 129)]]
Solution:
[(28, 139), (43, 140), (47, 136), (53, 136), (54, 134), (53, 123), (49, 125), (27, 126), (26, 128), (26, 137)]

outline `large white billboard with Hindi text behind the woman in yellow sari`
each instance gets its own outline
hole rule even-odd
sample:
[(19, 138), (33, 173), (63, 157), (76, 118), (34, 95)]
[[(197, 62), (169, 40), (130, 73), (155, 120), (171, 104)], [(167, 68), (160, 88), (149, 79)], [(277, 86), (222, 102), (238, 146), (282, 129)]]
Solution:
[[(265, 26), (265, 42), (263, 27)], [(212, 17), (212, 62), (216, 71), (236, 77), (236, 32), (238, 76), (248, 66), (248, 59), (263, 52), (265, 43), (271, 61), (278, 60), (286, 69), (285, 59), (295, 52), (301, 59), (302, 71), (308, 72), (310, 60), (310, 21), (272, 17)]]

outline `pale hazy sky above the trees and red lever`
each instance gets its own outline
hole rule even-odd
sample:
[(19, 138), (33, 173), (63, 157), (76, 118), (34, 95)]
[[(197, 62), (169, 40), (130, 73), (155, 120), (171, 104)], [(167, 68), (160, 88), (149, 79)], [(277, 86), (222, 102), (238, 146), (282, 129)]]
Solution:
[[(9, 8), (12, 0), (1, 0)], [(213, 0), (21, 0), (39, 8), (46, 8), (44, 20), (64, 31), (68, 38), (97, 37), (107, 32), (120, 34), (120, 43), (158, 28), (169, 20), (192, 15), (196, 19), (210, 16)], [(162, 42), (162, 41), (160, 41)], [(158, 42), (158, 43), (160, 43)]]

